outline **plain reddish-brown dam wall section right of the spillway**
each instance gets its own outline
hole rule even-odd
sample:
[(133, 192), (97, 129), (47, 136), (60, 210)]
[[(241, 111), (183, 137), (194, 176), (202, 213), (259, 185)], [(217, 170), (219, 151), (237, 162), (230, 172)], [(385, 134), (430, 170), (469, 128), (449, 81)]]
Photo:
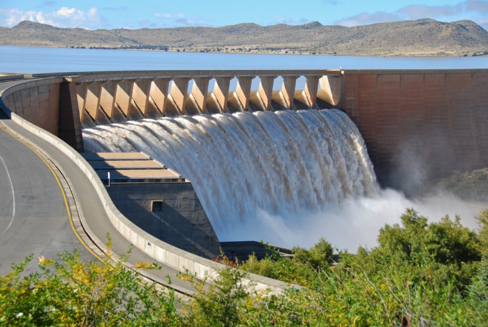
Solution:
[(385, 186), (488, 166), (488, 70), (344, 71), (341, 101)]

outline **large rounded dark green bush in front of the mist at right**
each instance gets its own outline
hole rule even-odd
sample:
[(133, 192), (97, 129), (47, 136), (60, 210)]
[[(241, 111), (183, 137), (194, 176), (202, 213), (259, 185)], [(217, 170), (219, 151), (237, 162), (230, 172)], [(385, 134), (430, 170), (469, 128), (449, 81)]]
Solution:
[[(446, 216), (427, 224), (427, 218), (413, 209), (401, 216), (401, 226), (381, 228), (378, 243), (371, 250), (371, 258), (362, 255), (370, 272), (389, 264), (419, 266), (419, 280), (428, 280), (438, 287), (453, 279), (458, 289), (464, 289), (481, 259), (478, 235), (462, 226), (459, 217), (451, 220)], [(368, 263), (371, 259), (374, 263)]]

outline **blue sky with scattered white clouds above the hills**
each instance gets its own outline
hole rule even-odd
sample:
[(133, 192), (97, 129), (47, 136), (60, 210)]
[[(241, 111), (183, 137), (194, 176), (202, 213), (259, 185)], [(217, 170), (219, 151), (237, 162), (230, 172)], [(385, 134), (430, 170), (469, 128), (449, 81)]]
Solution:
[(1, 27), (22, 20), (84, 29), (313, 21), (351, 27), (425, 17), (441, 22), (473, 20), (488, 30), (488, 0), (0, 0)]

